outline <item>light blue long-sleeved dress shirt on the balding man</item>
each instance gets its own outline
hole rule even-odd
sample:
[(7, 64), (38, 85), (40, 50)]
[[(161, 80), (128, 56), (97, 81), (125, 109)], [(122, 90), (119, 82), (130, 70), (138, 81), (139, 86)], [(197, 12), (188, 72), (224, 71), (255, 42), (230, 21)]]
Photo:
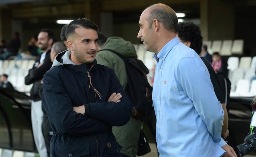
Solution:
[(154, 58), (156, 141), (160, 157), (221, 157), (224, 112), (197, 53), (174, 38)]

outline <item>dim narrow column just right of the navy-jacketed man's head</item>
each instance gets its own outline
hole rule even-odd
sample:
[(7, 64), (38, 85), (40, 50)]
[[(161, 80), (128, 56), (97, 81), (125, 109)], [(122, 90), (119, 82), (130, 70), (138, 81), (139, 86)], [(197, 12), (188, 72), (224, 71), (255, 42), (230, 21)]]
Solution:
[(106, 36), (113, 36), (113, 13), (103, 12), (101, 13), (101, 27), (100, 31)]

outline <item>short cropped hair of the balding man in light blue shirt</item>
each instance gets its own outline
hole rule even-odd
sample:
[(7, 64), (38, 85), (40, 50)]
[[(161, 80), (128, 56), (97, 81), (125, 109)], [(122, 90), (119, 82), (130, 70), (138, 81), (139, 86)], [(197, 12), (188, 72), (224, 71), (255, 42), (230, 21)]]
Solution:
[(154, 19), (157, 19), (158, 22), (162, 23), (168, 31), (177, 32), (178, 18), (175, 12), (171, 13), (167, 9), (152, 9), (147, 19), (150, 29)]

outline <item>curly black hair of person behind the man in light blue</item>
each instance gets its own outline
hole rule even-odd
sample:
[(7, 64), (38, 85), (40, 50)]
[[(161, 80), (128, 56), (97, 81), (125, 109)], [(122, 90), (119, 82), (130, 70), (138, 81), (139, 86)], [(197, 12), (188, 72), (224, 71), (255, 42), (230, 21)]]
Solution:
[(193, 22), (179, 22), (178, 23), (178, 37), (184, 42), (190, 42), (190, 48), (201, 53), (203, 37), (200, 28)]

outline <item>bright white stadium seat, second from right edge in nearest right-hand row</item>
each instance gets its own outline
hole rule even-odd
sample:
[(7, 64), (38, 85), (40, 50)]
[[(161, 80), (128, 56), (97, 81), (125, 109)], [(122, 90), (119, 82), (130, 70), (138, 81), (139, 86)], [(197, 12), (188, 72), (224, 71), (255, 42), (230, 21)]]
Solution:
[(230, 96), (249, 96), (250, 82), (249, 80), (238, 80), (235, 92), (230, 92)]

